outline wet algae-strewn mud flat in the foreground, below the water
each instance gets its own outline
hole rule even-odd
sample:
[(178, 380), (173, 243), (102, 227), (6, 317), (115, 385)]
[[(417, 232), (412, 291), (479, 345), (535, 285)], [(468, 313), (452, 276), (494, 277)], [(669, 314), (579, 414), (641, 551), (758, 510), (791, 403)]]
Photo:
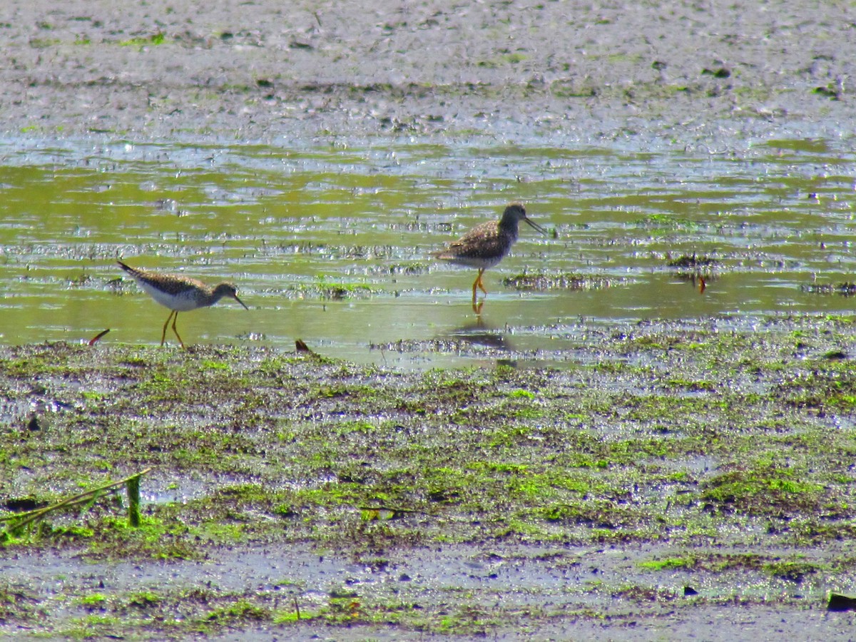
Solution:
[(3, 348), (3, 514), (152, 472), (140, 528), (119, 494), (3, 537), (0, 633), (846, 638), (853, 354), (819, 317), (589, 330), (561, 368)]

